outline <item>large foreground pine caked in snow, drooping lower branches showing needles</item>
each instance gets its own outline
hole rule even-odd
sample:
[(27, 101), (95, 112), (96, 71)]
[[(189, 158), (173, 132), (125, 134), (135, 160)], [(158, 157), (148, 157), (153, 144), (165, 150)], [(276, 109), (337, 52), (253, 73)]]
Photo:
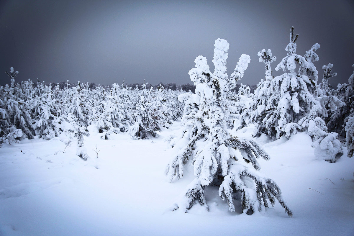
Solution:
[(261, 211), (262, 205), (274, 206), (277, 199), (286, 213), (292, 212), (285, 205), (281, 191), (276, 183), (261, 175), (257, 162), (259, 157), (268, 160), (268, 154), (254, 141), (232, 137), (228, 127), (235, 118), (228, 110), (229, 91), (242, 78), (250, 63), (250, 57), (242, 54), (228, 79), (226, 59), (229, 44), (226, 40), (215, 41), (214, 73), (211, 73), (206, 58), (198, 56), (195, 67), (189, 71), (190, 79), (196, 85), (195, 94), (182, 94), (179, 100), (185, 103), (182, 117), (183, 128), (179, 139), (173, 146), (179, 150), (166, 169), (173, 179), (183, 177), (183, 166), (191, 162), (195, 179), (188, 185), (182, 203), (178, 208), (187, 211), (195, 200), (208, 209), (205, 199), (205, 186), (219, 186), (219, 196), (228, 202), (229, 210), (235, 211), (234, 197), (241, 196), (243, 213)]

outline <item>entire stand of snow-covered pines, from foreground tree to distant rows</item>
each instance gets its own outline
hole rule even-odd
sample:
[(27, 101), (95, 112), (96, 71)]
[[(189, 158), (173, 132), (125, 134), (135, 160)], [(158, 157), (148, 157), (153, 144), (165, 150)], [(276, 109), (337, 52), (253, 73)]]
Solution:
[(210, 71), (205, 57), (198, 56), (189, 71), (194, 86), (179, 89), (176, 84), (146, 82), (106, 87), (80, 81), (75, 85), (18, 83), (18, 71), (11, 68), (6, 72), (10, 84), (0, 87), (0, 145), (26, 138), (50, 140), (65, 132), (77, 143), (76, 154), (87, 160), (84, 138), (89, 125), (97, 127), (102, 139), (120, 132), (146, 139), (181, 118), (183, 127), (171, 140), (176, 155), (166, 174), (171, 182), (182, 178), (184, 165), (190, 163), (195, 179), (184, 195), (184, 205), (176, 204), (172, 210), (189, 209), (195, 200), (208, 209), (204, 191), (211, 184), (219, 187), (230, 211), (235, 211), (233, 199), (238, 194), (242, 211), (249, 214), (278, 200), (291, 216), (279, 186), (258, 172), (257, 159), (268, 160), (268, 154), (255, 140), (234, 137), (234, 131), (254, 126), (253, 137), (264, 134), (273, 140), (306, 132), (316, 159), (328, 162), (335, 162), (344, 148), (348, 157), (354, 154), (354, 71), (348, 83), (331, 86), (335, 66), (325, 62), (323, 72), (314, 66), (319, 44), (303, 56), (297, 54), (298, 35), (293, 31), (292, 27), (286, 56), (275, 67), (283, 74), (273, 76), (271, 64), (277, 58), (270, 49), (258, 52), (265, 77), (255, 88), (237, 84), (247, 73), (248, 55), (241, 55), (228, 77), (229, 44), (223, 39), (214, 45), (215, 71)]

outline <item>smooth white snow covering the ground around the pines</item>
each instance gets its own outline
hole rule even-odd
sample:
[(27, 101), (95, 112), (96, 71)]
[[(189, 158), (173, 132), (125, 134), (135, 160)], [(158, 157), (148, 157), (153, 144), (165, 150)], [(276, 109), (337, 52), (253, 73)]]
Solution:
[(344, 151), (335, 163), (316, 160), (305, 133), (288, 141), (257, 139), (272, 157), (259, 160), (261, 172), (280, 186), (292, 218), (279, 203), (253, 215), (229, 212), (211, 186), (209, 212), (198, 204), (187, 214), (168, 211), (194, 179), (190, 165), (172, 184), (164, 174), (176, 151), (165, 139), (179, 126), (150, 140), (126, 133), (101, 140), (91, 129), (87, 161), (75, 155), (75, 143), (62, 152), (64, 134), (3, 144), (0, 235), (354, 235), (354, 158)]

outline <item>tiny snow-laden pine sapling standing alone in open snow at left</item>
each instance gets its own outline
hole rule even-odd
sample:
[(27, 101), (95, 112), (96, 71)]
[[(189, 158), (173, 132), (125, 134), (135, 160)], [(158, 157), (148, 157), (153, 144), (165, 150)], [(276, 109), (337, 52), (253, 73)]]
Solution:
[(68, 114), (68, 121), (73, 126), (73, 129), (67, 129), (65, 132), (70, 133), (70, 138), (76, 140), (76, 155), (86, 161), (89, 156), (87, 155), (86, 148), (84, 146), (84, 136), (90, 136), (89, 130), (86, 127), (80, 125), (80, 121), (73, 113)]

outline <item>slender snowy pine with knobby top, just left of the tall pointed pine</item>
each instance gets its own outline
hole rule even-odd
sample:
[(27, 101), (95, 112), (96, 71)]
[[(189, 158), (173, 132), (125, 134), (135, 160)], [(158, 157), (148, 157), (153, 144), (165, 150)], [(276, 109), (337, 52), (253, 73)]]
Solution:
[(269, 100), (269, 86), (270, 82), (273, 80), (272, 69), (270, 67), (270, 63), (276, 60), (276, 57), (272, 57), (272, 50), (268, 49), (265, 51), (258, 52), (258, 61), (263, 62), (265, 65), (265, 80), (262, 79), (261, 83), (257, 85), (257, 89), (255, 91), (254, 100), (252, 104), (252, 114), (251, 114), (251, 122), (255, 124), (255, 130), (253, 131), (253, 135), (255, 137), (261, 135), (261, 133), (267, 133), (266, 125), (267, 118), (272, 116), (272, 110), (268, 107)]

